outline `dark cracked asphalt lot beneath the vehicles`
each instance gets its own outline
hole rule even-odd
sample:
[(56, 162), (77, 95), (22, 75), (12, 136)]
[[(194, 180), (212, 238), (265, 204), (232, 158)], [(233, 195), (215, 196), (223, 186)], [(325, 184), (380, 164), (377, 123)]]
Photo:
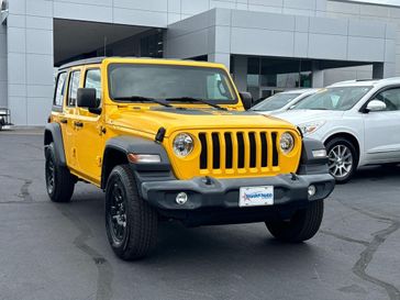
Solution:
[(0, 299), (400, 300), (400, 167), (368, 167), (325, 201), (297, 245), (264, 224), (164, 223), (157, 251), (126, 263), (104, 231), (103, 192), (45, 191), (42, 130), (0, 132)]

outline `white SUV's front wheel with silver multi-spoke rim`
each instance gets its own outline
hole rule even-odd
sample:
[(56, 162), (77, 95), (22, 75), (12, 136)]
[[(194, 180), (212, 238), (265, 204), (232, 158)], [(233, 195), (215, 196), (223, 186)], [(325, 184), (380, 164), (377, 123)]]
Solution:
[(333, 138), (326, 143), (327, 167), (337, 184), (347, 182), (355, 174), (358, 155), (354, 145), (345, 138)]

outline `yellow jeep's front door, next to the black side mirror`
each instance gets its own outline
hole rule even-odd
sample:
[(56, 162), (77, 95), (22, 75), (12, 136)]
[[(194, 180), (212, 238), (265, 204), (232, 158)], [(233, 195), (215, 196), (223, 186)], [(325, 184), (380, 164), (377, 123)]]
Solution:
[[(86, 69), (82, 87), (96, 89), (98, 104), (101, 108), (100, 68), (89, 66)], [(76, 148), (79, 173), (90, 181), (100, 185), (102, 153), (104, 151), (102, 116), (101, 114), (89, 112), (88, 109), (78, 108), (76, 122)]]

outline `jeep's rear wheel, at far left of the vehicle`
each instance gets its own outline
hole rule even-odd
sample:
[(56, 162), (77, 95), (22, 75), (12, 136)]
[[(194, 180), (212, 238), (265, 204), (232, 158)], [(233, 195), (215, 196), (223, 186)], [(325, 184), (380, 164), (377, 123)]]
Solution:
[(57, 165), (54, 143), (46, 146), (45, 177), (48, 197), (53, 202), (69, 202), (74, 193), (75, 176)]

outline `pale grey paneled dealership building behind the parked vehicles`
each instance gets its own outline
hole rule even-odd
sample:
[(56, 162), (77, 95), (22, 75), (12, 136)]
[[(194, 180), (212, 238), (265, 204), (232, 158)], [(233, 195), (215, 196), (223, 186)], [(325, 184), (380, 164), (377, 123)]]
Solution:
[(43, 125), (54, 75), (93, 56), (223, 63), (255, 98), (400, 76), (399, 0), (0, 0), (0, 108)]

